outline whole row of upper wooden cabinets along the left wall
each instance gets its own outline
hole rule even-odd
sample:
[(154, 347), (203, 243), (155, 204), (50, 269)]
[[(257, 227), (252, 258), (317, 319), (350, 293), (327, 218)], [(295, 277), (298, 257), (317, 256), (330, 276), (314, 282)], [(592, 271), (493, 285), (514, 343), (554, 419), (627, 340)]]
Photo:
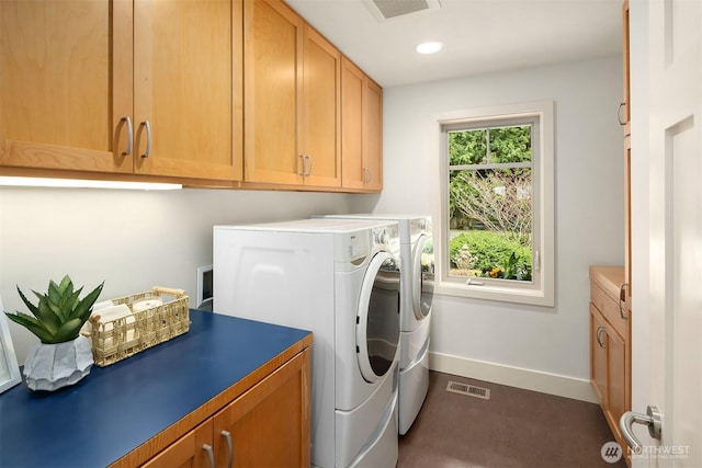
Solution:
[(382, 122), (282, 0), (0, 0), (3, 173), (376, 192)]

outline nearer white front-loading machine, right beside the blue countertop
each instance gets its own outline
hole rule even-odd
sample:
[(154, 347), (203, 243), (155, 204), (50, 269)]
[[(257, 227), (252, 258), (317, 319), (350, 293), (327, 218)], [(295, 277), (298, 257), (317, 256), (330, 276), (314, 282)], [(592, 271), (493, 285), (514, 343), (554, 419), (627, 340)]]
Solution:
[(214, 227), (213, 310), (314, 332), (313, 466), (397, 463), (398, 253), (390, 221)]

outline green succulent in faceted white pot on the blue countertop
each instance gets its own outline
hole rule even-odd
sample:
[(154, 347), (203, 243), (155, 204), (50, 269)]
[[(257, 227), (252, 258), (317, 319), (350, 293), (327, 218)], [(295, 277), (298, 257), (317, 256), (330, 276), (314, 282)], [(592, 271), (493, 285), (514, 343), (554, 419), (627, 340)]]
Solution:
[(23, 374), (29, 388), (56, 390), (76, 384), (90, 373), (93, 364), (90, 341), (80, 334), (80, 329), (90, 318), (103, 285), (104, 282), (80, 299), (83, 288), (75, 289), (66, 275), (59, 284), (49, 281), (46, 294), (32, 292), (39, 300), (37, 305), (30, 303), (18, 286), (32, 316), (19, 311), (4, 313), (42, 342), (30, 349), (24, 362)]

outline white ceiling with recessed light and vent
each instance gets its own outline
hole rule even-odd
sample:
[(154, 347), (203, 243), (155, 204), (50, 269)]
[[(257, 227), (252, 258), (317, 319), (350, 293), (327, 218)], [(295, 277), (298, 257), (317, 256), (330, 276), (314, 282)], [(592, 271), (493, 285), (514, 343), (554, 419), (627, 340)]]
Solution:
[[(384, 88), (622, 52), (616, 0), (433, 0), (388, 20), (373, 0), (286, 2)], [(426, 41), (444, 47), (416, 53)]]

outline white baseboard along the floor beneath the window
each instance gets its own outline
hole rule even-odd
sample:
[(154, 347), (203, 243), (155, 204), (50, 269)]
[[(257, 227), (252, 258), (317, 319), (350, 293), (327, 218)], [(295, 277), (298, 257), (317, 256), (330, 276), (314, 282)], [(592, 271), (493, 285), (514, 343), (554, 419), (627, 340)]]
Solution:
[(429, 353), (429, 368), (461, 377), (599, 403), (590, 381), (585, 379), (432, 352)]

